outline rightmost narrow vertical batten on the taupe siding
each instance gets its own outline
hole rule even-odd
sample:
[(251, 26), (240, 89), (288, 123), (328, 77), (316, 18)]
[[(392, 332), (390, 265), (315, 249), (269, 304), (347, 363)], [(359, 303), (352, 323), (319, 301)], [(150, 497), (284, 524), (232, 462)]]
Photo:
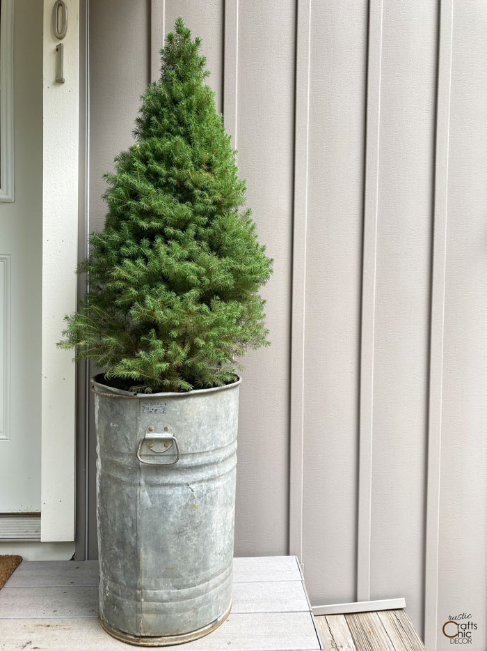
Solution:
[(431, 278), (429, 424), (424, 565), (424, 641), (436, 649), (438, 636), (438, 551), (440, 517), (440, 457), (442, 427), (443, 335), (449, 158), (449, 114), (452, 74), (453, 0), (440, 2), (438, 91), (436, 100), (436, 168)]

